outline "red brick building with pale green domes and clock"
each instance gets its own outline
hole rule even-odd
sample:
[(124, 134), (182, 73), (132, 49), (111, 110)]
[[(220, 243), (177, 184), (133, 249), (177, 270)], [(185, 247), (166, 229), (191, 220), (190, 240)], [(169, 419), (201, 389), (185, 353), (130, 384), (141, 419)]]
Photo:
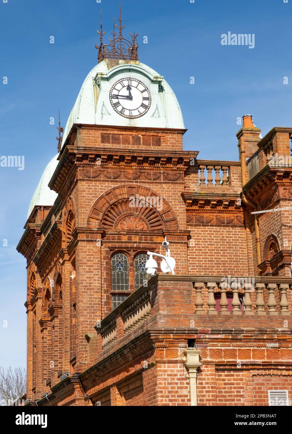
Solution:
[[(183, 151), (174, 92), (135, 35), (115, 38), (97, 47), (17, 247), (26, 405), (288, 405), (292, 210), (251, 213), (292, 206), (292, 128), (261, 138), (247, 115), (238, 161)], [(175, 275), (149, 279), (165, 237)]]

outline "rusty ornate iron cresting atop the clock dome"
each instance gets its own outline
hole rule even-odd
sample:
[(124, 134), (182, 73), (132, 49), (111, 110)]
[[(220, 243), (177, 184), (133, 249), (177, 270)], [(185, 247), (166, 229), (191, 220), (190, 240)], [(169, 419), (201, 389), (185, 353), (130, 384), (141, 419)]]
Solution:
[[(109, 44), (104, 44), (103, 36), (106, 32), (102, 31), (102, 11), (101, 11), (101, 30), (97, 30), (100, 36), (100, 45), (96, 45), (95, 48), (98, 49), (97, 59), (98, 63), (102, 62), (104, 59), (123, 59), (123, 60), (139, 60), (138, 58), (138, 34), (130, 33), (132, 37), (132, 42), (123, 37), (123, 29), (126, 26), (122, 25), (122, 10), (120, 4), (120, 18), (118, 19), (119, 25), (115, 24), (114, 20), (114, 30), (113, 39), (110, 39)], [(115, 28), (119, 29), (119, 34), (115, 33)]]

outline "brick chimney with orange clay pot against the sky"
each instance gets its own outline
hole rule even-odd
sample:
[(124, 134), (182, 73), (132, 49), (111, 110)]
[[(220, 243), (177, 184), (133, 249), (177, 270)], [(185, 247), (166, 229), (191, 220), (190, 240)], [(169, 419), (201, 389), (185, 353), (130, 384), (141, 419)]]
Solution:
[(242, 128), (236, 136), (238, 138), (238, 151), (241, 161), (242, 184), (244, 185), (248, 181), (246, 161), (258, 150), (257, 145), (261, 141), (261, 138), (260, 128), (256, 128), (253, 124), (253, 116), (245, 115), (242, 119)]

